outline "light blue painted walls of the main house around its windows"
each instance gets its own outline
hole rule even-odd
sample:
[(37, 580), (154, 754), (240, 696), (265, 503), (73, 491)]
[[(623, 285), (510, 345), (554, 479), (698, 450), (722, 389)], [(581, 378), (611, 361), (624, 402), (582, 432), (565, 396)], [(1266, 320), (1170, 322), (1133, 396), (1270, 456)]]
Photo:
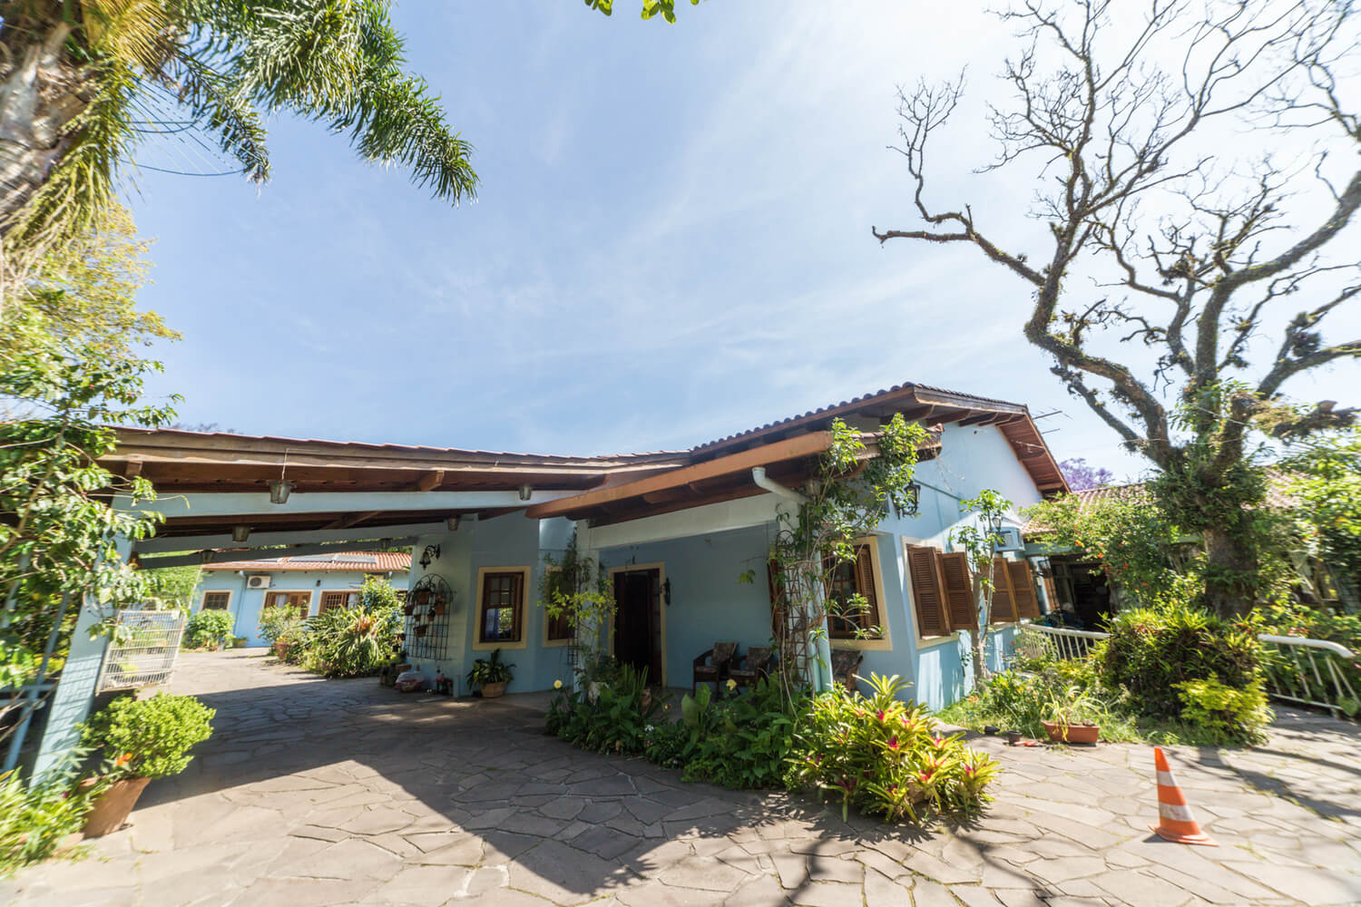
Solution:
[[(833, 640), (834, 647), (856, 647), (864, 653), (860, 673), (898, 674), (913, 685), (905, 691), (932, 707), (943, 707), (970, 687), (965, 654), (968, 634), (921, 640), (917, 634), (911, 583), (905, 568), (904, 544), (934, 544), (950, 551), (949, 534), (966, 522), (960, 500), (984, 488), (995, 488), (1019, 509), (1040, 500), (1029, 473), (994, 427), (960, 428), (947, 426), (942, 456), (921, 464), (923, 484), (916, 515), (890, 515), (874, 536), (878, 553), (881, 621), (887, 640)], [(1021, 525), (1019, 513), (1011, 525)], [(702, 522), (697, 524), (702, 525)], [(618, 529), (623, 529), (622, 526)], [(486, 522), (472, 522), (457, 533), (421, 538), (416, 555), (427, 544), (441, 547), (441, 558), (430, 564), (449, 582), (456, 594), (449, 619), (448, 655), (442, 660), (412, 660), (427, 677), (453, 677), (460, 694), (470, 692), (463, 680), (472, 661), (486, 657), (475, 651), (478, 570), (483, 567), (528, 567), (529, 583), (524, 604), (523, 642), (504, 646), (502, 660), (514, 665), (512, 692), (548, 689), (555, 680), (568, 680), (565, 646), (544, 646), (546, 615), (539, 601), (544, 555), (559, 556), (572, 536), (566, 519), (529, 521), (510, 514)], [(776, 524), (768, 522), (727, 532), (694, 534), (645, 544), (615, 544), (597, 552), (604, 570), (660, 564), (671, 583), (671, 604), (663, 605), (664, 683), (689, 687), (691, 661), (717, 640), (736, 640), (742, 650), (769, 645), (770, 602), (765, 563)], [(615, 533), (618, 534), (618, 533)], [(1013, 555), (1017, 556), (1017, 555)], [(753, 582), (740, 582), (751, 571)], [(411, 582), (425, 571), (412, 566)], [(1013, 628), (992, 634), (989, 662), (1000, 668), (1000, 646), (1010, 645)]]

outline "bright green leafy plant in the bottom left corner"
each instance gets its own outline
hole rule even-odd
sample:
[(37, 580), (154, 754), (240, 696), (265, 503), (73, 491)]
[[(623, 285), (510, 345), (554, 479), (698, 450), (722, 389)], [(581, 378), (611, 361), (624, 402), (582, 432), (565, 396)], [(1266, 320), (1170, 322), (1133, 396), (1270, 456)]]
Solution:
[(18, 771), (0, 775), (0, 878), (42, 862), (80, 831), (99, 786), (78, 790), (69, 771), (24, 785)]

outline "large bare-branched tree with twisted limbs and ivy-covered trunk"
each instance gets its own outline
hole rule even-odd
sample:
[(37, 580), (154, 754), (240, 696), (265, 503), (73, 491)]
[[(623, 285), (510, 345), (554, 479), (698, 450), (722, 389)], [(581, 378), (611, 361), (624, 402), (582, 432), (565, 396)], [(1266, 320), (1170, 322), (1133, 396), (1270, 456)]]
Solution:
[[(1361, 299), (1356, 243), (1342, 238), (1361, 208), (1361, 113), (1341, 90), (1357, 15), (1345, 0), (1158, 1), (1135, 15), (1113, 0), (1026, 0), (1003, 14), (1019, 50), (1003, 69), (1011, 101), (987, 107), (998, 155), (985, 170), (1034, 185), (1036, 230), (927, 201), (927, 147), (958, 110), (960, 82), (901, 95), (900, 151), (925, 226), (872, 233), (968, 243), (1021, 280), (1025, 337), (1158, 466), (1154, 491), (1204, 540), (1204, 597), (1228, 615), (1260, 592), (1253, 417), (1296, 375), (1361, 356), (1361, 339), (1330, 343), (1319, 329)], [(1244, 126), (1256, 126), (1240, 143), (1260, 150), (1256, 162), (1222, 154), (1225, 131)], [(1285, 167), (1273, 141), (1292, 156), (1319, 151)], [(1319, 407), (1293, 427), (1353, 416)]]

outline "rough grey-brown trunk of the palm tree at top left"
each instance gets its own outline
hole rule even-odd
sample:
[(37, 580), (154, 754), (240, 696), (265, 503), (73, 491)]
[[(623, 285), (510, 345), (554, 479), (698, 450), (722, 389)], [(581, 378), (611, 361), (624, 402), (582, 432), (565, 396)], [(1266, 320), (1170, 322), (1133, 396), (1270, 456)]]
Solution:
[(45, 41), (11, 48), (14, 61), (0, 68), (0, 235), (61, 162), (71, 122), (88, 106), (90, 73), (67, 58), (69, 33), (59, 23)]

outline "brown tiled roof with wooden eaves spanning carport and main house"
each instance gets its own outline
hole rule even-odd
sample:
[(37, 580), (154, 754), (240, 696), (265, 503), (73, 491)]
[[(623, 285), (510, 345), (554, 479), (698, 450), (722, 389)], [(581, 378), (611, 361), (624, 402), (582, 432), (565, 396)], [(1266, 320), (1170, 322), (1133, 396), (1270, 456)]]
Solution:
[[(777, 481), (798, 480), (806, 475), (810, 457), (815, 457), (817, 451), (785, 454), (791, 449), (806, 447), (808, 435), (826, 432), (834, 419), (844, 419), (872, 435), (878, 426), (900, 413), (931, 428), (947, 423), (965, 427), (996, 426), (1043, 495), (1067, 491), (1057, 462), (1025, 405), (911, 382), (770, 422), (690, 450), (583, 457), (118, 428), (117, 450), (101, 458), (101, 464), (124, 476), (140, 475), (148, 479), (162, 495), (259, 494), (280, 477), (287, 479), (293, 490), (304, 495), (355, 492), (351, 513), (304, 513), (294, 507), (287, 513), (256, 513), (249, 519), (223, 514), (185, 514), (170, 517), (157, 533), (159, 537), (223, 532), (242, 522), (275, 532), (372, 528), (377, 534), (384, 526), (408, 525), (416, 518), (437, 521), (465, 514), (490, 518), (520, 507), (433, 507), (429, 513), (391, 513), (377, 507), (366, 509), (365, 494), (501, 492), (524, 485), (535, 491), (574, 492), (565, 500), (529, 507), (531, 517), (553, 513), (617, 521), (757, 494), (750, 481), (732, 479), (742, 469), (750, 473), (750, 465), (772, 465), (770, 476)], [(923, 451), (924, 457), (934, 456), (939, 449), (938, 431), (935, 438), (936, 442)], [(736, 454), (746, 456), (735, 457)], [(705, 468), (705, 475), (700, 479), (686, 472), (701, 464), (713, 465)], [(663, 473), (676, 475), (661, 479)]]

